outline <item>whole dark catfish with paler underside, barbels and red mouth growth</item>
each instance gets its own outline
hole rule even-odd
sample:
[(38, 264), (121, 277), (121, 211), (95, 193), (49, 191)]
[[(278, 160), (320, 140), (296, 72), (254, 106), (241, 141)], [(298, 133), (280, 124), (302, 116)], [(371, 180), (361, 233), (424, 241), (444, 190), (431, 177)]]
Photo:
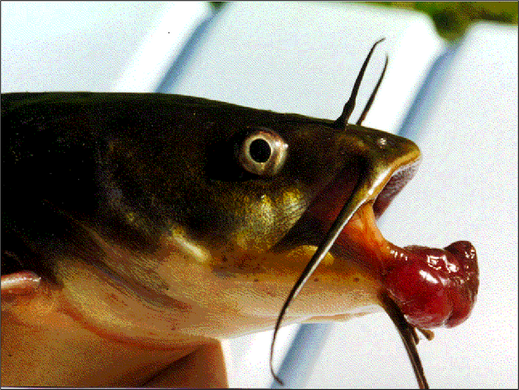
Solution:
[[(336, 120), (159, 93), (2, 94), (2, 385), (227, 385), (220, 340), (475, 303), (474, 247), (400, 248), (376, 220), (417, 145)], [(276, 380), (282, 383), (272, 369)]]

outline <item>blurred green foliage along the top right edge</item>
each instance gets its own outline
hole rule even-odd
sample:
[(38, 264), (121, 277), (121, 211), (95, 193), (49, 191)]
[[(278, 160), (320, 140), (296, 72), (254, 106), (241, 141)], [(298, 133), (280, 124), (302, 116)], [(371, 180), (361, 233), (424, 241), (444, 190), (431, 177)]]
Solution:
[[(429, 15), (438, 34), (449, 41), (460, 38), (479, 20), (517, 24), (517, 2), (366, 2), (391, 8), (413, 9)], [(211, 2), (220, 10), (226, 2)]]

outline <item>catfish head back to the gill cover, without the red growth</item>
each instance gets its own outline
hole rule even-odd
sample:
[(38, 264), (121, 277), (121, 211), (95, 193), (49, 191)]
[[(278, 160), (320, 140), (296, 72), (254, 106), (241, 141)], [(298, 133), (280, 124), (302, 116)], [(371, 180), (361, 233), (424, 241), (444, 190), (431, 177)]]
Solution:
[[(117, 100), (126, 99), (102, 105), (120, 113)], [(134, 96), (132, 104), (130, 119), (105, 112), (94, 211), (74, 225), (82, 232), (75, 241), (85, 247), (88, 237), (96, 249), (52, 258), (73, 315), (112, 337), (142, 339), (149, 326), (161, 329), (160, 342), (272, 328), (340, 209), (365, 205), (378, 216), (420, 158), (412, 141), (332, 120), (181, 96)], [(379, 236), (373, 227), (337, 241), (288, 322), (378, 310), (377, 262), (359, 244)], [(106, 311), (90, 302), (107, 302)]]

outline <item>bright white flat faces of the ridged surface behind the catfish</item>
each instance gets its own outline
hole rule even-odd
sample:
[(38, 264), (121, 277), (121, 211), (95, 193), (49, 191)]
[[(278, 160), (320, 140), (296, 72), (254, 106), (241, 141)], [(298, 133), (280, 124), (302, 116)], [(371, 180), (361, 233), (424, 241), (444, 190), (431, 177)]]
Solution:
[[(173, 20), (167, 19), (171, 9), (165, 3), (3, 2), (2, 92), (116, 90), (137, 77), (128, 69), (165, 18)], [(184, 12), (187, 24), (205, 15)], [(197, 42), (173, 90), (334, 119), (381, 36), (387, 41), (368, 66), (359, 102), (389, 52), (390, 68), (365, 125), (395, 132), (445, 48), (428, 19), (412, 12), (234, 4)], [(148, 79), (140, 88), (151, 85)], [(480, 292), (471, 317), (419, 344), (429, 384), (517, 387), (517, 27), (474, 26), (438, 88), (439, 100), (420, 127), (419, 173), (387, 210), (381, 230), (397, 245), (443, 247), (468, 239), (479, 255)], [(268, 332), (227, 343), (234, 356), (231, 386), (270, 384), (269, 343)], [(336, 325), (308, 386), (416, 384), (397, 332), (380, 314)]]

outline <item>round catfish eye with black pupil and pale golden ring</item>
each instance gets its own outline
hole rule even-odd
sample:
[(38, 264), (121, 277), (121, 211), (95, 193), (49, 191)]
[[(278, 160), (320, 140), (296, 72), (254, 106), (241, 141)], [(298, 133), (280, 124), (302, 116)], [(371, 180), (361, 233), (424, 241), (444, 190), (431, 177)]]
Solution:
[(244, 139), (238, 158), (245, 170), (261, 176), (274, 176), (283, 167), (288, 145), (275, 131), (253, 130)]

